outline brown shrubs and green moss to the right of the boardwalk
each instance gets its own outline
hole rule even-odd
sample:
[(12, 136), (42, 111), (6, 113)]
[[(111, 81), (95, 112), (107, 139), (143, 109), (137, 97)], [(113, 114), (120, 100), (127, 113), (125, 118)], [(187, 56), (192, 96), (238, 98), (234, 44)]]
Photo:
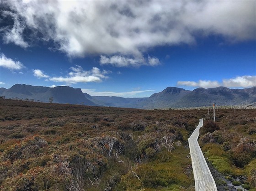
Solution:
[(216, 117), (213, 123), (206, 116), (200, 129), (199, 143), (205, 157), (233, 185), (242, 182), (246, 189), (255, 191), (256, 111), (241, 109), (235, 114), (234, 109), (220, 109)]

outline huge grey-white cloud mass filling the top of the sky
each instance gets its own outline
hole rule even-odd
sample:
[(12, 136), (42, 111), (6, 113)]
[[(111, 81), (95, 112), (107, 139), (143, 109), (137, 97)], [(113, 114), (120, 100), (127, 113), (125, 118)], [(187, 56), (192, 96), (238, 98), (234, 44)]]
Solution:
[(139, 57), (150, 47), (191, 44), (212, 34), (232, 41), (256, 38), (254, 0), (5, 0), (2, 7), (3, 21), (12, 19), (0, 29), (5, 43), (53, 41), (70, 57)]

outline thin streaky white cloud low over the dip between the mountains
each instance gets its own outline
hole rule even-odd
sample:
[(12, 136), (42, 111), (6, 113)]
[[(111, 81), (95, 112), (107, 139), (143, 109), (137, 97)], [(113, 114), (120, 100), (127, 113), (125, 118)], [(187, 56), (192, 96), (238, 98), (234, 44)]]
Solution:
[(95, 89), (81, 89), (83, 93), (88, 93), (91, 96), (117, 96), (117, 97), (136, 97), (140, 93), (154, 92), (155, 90), (141, 90), (141, 91), (128, 91), (128, 92), (96, 92)]

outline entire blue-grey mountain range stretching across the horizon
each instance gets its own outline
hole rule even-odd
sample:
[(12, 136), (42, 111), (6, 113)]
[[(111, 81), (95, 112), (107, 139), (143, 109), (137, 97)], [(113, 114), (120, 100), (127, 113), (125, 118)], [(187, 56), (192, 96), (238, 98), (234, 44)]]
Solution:
[(0, 88), (0, 96), (5, 98), (30, 99), (34, 101), (53, 103), (85, 104), (92, 106), (123, 107), (123, 108), (188, 108), (217, 105), (238, 105), (256, 103), (256, 87), (245, 89), (196, 88), (185, 90), (183, 88), (167, 87), (149, 98), (122, 98), (115, 96), (91, 96), (83, 93), (80, 88), (57, 86), (48, 88), (16, 84), (9, 89)]

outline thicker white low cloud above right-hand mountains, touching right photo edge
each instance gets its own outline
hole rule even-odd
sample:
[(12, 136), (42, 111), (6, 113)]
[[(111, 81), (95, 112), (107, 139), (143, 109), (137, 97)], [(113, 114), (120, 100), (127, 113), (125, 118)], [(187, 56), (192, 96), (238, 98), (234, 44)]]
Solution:
[(231, 79), (224, 79), (223, 85), (230, 88), (248, 88), (256, 86), (256, 76), (237, 76)]

